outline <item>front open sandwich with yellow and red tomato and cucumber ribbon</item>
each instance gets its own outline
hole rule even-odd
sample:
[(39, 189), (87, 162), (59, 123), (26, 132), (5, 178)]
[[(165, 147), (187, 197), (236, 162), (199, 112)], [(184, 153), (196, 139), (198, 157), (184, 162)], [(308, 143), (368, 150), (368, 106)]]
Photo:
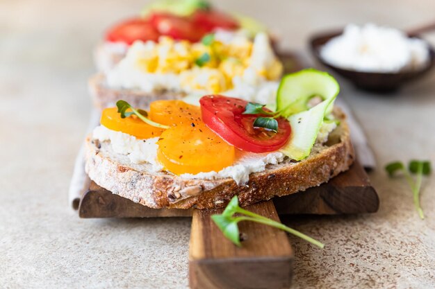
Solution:
[(124, 100), (102, 112), (85, 170), (112, 193), (151, 208), (245, 206), (304, 191), (347, 170), (354, 152), (338, 83), (306, 69), (285, 76), (274, 103), (206, 95), (198, 105)]

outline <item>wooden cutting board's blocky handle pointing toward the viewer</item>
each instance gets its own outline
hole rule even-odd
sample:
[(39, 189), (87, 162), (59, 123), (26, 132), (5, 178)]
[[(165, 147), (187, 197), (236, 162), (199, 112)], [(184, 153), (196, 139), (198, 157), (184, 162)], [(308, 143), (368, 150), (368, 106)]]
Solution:
[[(246, 207), (279, 222), (272, 201)], [(217, 210), (193, 211), (189, 248), (192, 289), (289, 288), (293, 249), (284, 231), (254, 222), (240, 222), (242, 247), (233, 245), (211, 220)]]

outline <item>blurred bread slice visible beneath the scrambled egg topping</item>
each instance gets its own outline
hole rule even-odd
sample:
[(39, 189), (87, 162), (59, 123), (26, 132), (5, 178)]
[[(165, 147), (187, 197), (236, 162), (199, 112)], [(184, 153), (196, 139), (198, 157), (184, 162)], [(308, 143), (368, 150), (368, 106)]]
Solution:
[(117, 100), (125, 100), (133, 107), (149, 107), (149, 103), (162, 99), (181, 99), (186, 94), (180, 91), (166, 89), (156, 90), (151, 93), (139, 89), (114, 89), (108, 87), (104, 73), (97, 73), (89, 79), (89, 91), (95, 107), (104, 110), (114, 107)]

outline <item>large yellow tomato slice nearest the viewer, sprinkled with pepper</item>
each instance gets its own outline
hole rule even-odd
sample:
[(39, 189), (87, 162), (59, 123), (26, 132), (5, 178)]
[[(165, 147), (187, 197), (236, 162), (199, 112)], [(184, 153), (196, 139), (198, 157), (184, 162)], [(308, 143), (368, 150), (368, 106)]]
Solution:
[(157, 157), (166, 170), (183, 173), (218, 172), (234, 161), (234, 147), (202, 122), (177, 125), (161, 134)]

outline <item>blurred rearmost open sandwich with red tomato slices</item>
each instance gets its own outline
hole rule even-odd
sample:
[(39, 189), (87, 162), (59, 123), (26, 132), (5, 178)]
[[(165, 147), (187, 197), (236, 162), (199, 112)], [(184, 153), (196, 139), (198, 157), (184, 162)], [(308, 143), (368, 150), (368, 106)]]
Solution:
[(205, 0), (158, 0), (147, 6), (140, 16), (108, 29), (95, 49), (95, 64), (100, 71), (114, 67), (136, 40), (157, 42), (159, 37), (169, 36), (199, 42), (204, 35), (215, 31), (252, 37), (265, 32), (265, 28), (249, 17), (217, 10)]

